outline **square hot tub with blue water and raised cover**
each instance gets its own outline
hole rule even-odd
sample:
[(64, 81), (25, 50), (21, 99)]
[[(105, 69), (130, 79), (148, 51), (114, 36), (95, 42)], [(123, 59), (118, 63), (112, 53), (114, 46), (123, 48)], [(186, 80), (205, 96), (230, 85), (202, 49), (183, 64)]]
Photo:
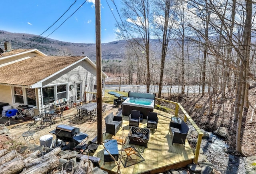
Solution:
[(155, 94), (129, 92), (128, 98), (122, 103), (122, 115), (129, 116), (132, 110), (140, 111), (143, 119), (147, 119), (148, 112), (154, 111)]

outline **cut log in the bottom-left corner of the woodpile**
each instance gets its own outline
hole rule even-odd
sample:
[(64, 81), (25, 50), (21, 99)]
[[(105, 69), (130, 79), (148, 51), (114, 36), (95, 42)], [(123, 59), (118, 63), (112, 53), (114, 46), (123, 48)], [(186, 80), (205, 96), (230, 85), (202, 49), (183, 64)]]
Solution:
[(16, 174), (22, 171), (24, 166), (22, 158), (16, 157), (0, 166), (0, 171), (3, 174)]

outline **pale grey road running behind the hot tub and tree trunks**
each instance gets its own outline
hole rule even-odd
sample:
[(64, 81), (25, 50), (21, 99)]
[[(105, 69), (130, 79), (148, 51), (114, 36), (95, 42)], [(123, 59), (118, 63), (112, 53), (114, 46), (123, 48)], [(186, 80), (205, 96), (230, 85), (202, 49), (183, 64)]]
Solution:
[[(198, 91), (202, 90), (202, 86), (199, 85), (191, 85), (185, 87), (185, 93), (196, 93), (198, 94)], [(113, 91), (119, 91), (119, 85), (105, 85), (105, 89), (113, 90)], [(146, 85), (121, 85), (120, 91), (134, 91), (134, 92), (144, 92), (146, 93)], [(206, 87), (206, 91), (208, 88)], [(163, 86), (162, 93), (168, 93), (168, 91), (171, 91), (172, 93), (180, 93), (181, 89), (180, 86), (175, 85), (172, 86), (170, 90), (170, 86)], [(150, 93), (158, 93), (158, 85), (150, 85)], [(201, 92), (200, 92), (201, 93)]]

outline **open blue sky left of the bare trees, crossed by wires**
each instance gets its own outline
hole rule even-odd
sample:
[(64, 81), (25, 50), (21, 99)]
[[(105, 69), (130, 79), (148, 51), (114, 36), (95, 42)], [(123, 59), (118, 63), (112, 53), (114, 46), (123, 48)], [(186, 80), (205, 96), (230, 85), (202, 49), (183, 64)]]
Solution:
[[(0, 30), (15, 33), (40, 35), (47, 30), (75, 0), (5, 0), (1, 1)], [(76, 3), (52, 28), (42, 36), (53, 32), (64, 20), (74, 13), (85, 0)], [(48, 38), (76, 43), (95, 43), (95, 0), (87, 0), (62, 26)], [(108, 4), (110, 5), (110, 8)], [(114, 1), (121, 14), (120, 0)], [(111, 9), (111, 10), (110, 10)], [(115, 31), (118, 13), (111, 0), (101, 0), (101, 42), (108, 43), (117, 40)]]

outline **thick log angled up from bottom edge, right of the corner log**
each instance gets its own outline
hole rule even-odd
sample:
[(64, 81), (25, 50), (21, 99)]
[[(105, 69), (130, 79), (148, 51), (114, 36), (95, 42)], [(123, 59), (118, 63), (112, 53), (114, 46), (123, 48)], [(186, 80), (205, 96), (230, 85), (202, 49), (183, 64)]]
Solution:
[(40, 161), (38, 164), (23, 171), (22, 174), (45, 174), (59, 166), (59, 159), (57, 156), (50, 156), (47, 159)]

